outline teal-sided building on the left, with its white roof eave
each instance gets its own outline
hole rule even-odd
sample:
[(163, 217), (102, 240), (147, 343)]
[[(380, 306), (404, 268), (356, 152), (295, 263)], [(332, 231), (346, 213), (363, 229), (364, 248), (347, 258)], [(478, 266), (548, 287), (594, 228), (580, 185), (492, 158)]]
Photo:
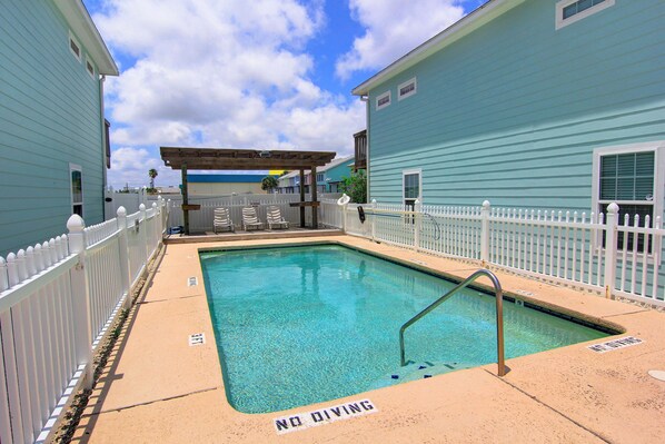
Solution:
[(0, 8), (0, 256), (103, 220), (105, 76), (118, 68), (80, 0)]

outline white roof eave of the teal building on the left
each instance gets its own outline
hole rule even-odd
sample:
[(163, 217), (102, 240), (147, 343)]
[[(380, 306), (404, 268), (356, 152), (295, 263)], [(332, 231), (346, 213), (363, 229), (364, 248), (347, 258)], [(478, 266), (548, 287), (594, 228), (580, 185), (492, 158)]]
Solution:
[(54, 3), (77, 38), (81, 40), (81, 45), (88, 50), (90, 58), (97, 65), (99, 73), (119, 76), (118, 66), (83, 2), (81, 0), (54, 0)]

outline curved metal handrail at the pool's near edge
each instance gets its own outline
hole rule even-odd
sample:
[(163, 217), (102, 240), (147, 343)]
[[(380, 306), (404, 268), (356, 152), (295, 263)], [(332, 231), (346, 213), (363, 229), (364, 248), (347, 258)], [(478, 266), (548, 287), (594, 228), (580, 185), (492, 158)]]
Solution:
[(438, 307), (440, 304), (445, 303), (448, 298), (450, 298), (450, 296), (453, 296), (460, 289), (466, 288), (470, 283), (473, 283), (480, 276), (487, 276), (494, 285), (494, 293), (496, 296), (496, 354), (498, 375), (504, 376), (506, 374), (506, 364), (504, 362), (504, 290), (502, 289), (502, 284), (498, 282), (496, 275), (485, 268), (479, 269), (469, 277), (467, 277), (465, 282), (453, 288), (450, 292), (446, 293), (444, 296), (436, 299), (427, 308), (418, 313), (416, 316), (411, 317), (401, 326), (401, 328), (399, 328), (399, 358), (401, 361), (403, 367), (406, 365), (406, 361), (404, 357), (404, 332), (413, 324), (418, 322), (420, 318), (423, 318), (423, 316)]

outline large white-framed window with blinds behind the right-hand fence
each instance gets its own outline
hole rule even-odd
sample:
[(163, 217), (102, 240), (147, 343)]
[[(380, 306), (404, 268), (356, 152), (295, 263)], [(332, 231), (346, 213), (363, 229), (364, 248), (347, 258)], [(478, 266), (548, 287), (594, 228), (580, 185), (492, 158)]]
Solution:
[[(614, 201), (619, 207), (619, 225), (624, 224), (625, 215), (629, 215), (631, 226), (635, 215), (639, 215), (641, 226), (644, 226), (645, 217), (649, 216), (649, 225), (653, 227), (655, 218), (663, 214), (664, 155), (664, 142), (595, 150), (593, 211), (607, 214), (607, 206)], [(627, 249), (632, 250), (633, 235), (628, 235), (626, 239), (618, 236), (619, 249), (624, 247), (624, 241), (627, 243)], [(643, 235), (637, 238), (637, 250), (644, 250)]]

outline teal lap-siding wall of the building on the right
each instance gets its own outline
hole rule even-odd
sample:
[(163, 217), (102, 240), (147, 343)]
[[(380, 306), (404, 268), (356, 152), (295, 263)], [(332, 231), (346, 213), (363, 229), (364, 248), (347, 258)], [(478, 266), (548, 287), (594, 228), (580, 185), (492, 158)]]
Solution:
[(589, 211), (595, 148), (665, 139), (665, 2), (559, 30), (555, 4), (527, 0), (370, 91), (370, 198), (400, 201), (420, 168), (425, 204)]

